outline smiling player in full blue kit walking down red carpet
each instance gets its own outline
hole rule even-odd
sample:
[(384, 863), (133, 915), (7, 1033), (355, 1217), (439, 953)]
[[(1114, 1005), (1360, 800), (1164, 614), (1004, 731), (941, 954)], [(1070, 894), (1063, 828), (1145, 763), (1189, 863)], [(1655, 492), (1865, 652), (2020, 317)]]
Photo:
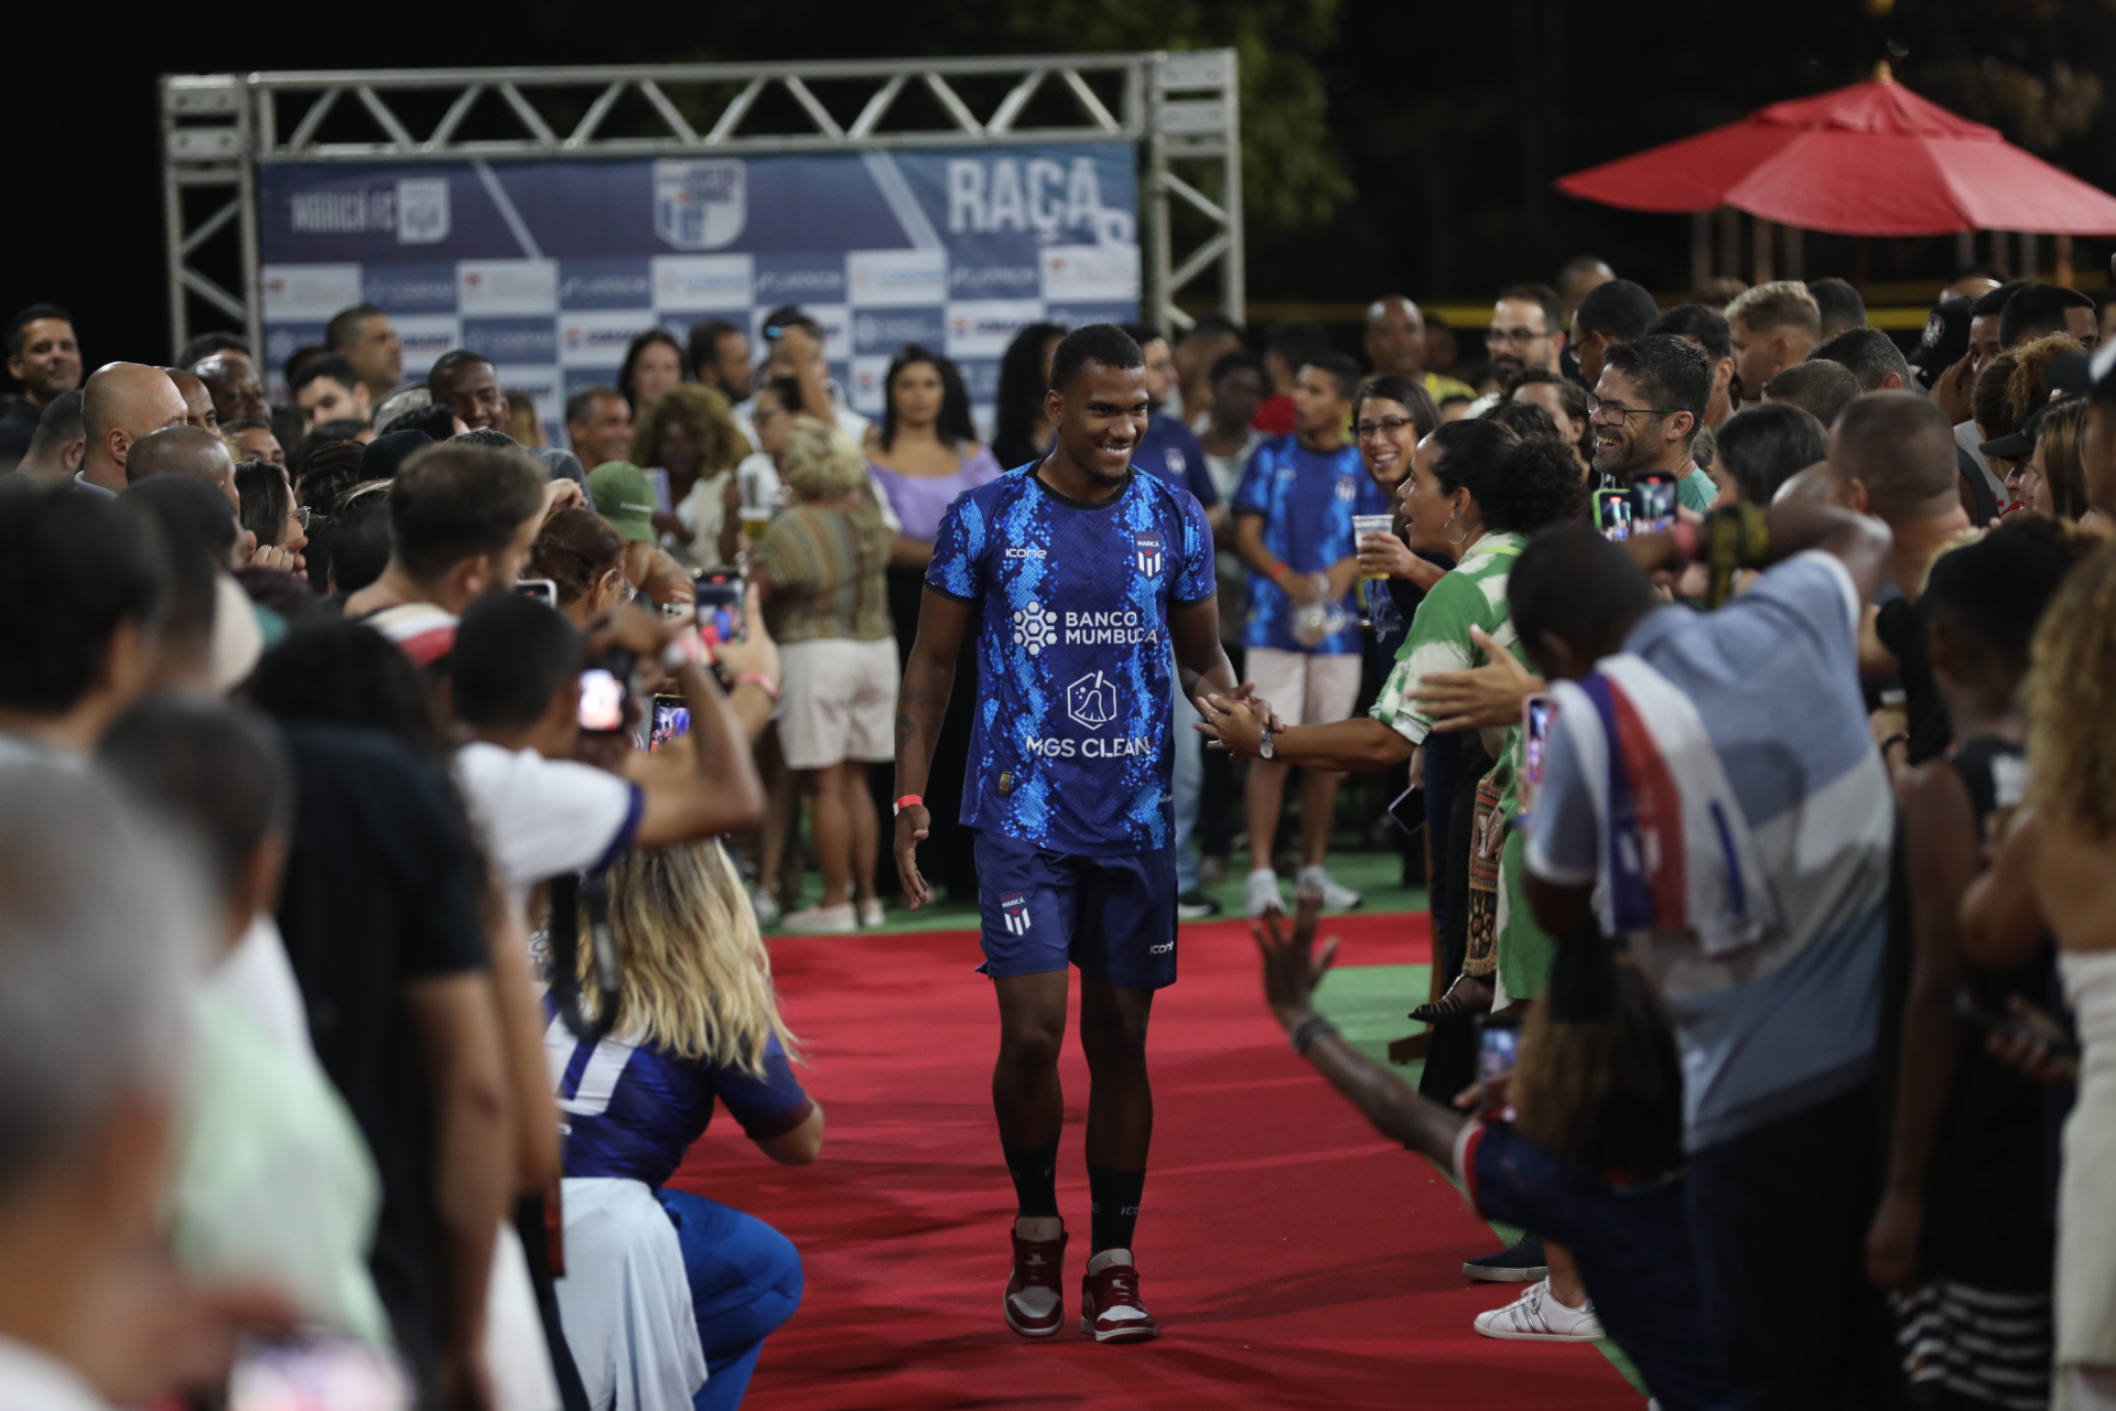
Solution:
[(1066, 334), (1045, 417), (1052, 453), (956, 499), (933, 546), (897, 698), (897, 869), (914, 908), (931, 899), (923, 789), (973, 637), (963, 823), (978, 829), (982, 971), (999, 994), (992, 1108), (1018, 1199), (1003, 1314), (1022, 1337), (1064, 1326), (1058, 1049), (1077, 965), (1092, 1077), (1081, 1331), (1143, 1341), (1157, 1335), (1132, 1259), (1153, 1138), (1147, 1018), (1176, 977), (1170, 673), (1191, 698), (1236, 681), (1204, 510), (1132, 470), (1147, 432), (1138, 345), (1113, 324)]

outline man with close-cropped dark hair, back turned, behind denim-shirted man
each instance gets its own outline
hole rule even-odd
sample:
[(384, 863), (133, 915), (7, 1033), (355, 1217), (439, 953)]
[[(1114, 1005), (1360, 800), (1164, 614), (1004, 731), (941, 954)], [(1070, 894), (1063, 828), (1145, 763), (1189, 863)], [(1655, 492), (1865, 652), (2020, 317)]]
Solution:
[(1932, 561), (1970, 527), (1957, 489), (1955, 429), (1938, 404), (1915, 391), (1871, 391), (1845, 406), (1830, 427), (1828, 465), (1837, 501), (1873, 514), (1894, 535), (1860, 664), (1875, 673), (1887, 666), (1887, 656), (1894, 658), (1909, 738), (1890, 745), (1887, 762), (1892, 768), (1923, 764), (1951, 743), (1947, 707), (1926, 652), (1928, 622), (1919, 594)]

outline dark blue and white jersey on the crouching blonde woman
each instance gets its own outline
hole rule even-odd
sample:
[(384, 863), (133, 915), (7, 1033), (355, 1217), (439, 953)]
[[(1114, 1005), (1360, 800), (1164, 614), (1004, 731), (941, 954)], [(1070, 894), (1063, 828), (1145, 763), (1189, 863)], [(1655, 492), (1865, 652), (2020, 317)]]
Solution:
[(813, 1104), (777, 1039), (766, 1041), (764, 1077), (681, 1060), (618, 1037), (586, 1043), (544, 998), (544, 1058), (559, 1094), (567, 1176), (626, 1176), (662, 1185), (713, 1119), (713, 1098), (751, 1138), (808, 1121)]

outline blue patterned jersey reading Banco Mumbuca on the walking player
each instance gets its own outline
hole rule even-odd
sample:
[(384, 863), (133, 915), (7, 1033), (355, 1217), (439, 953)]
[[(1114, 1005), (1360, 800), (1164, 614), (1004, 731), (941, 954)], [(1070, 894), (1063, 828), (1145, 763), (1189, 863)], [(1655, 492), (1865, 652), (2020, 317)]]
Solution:
[(927, 569), (980, 611), (963, 823), (1077, 857), (1166, 848), (1168, 607), (1215, 594), (1212, 531), (1191, 495), (1138, 470), (1098, 501), (1035, 470), (956, 499)]

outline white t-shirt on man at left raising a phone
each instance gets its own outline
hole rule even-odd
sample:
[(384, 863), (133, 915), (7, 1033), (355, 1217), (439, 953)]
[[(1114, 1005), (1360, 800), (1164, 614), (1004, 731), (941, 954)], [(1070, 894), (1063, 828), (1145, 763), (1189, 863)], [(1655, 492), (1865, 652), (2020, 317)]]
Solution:
[(455, 778), (521, 916), (537, 882), (614, 863), (645, 810), (628, 778), (485, 740), (455, 751)]

